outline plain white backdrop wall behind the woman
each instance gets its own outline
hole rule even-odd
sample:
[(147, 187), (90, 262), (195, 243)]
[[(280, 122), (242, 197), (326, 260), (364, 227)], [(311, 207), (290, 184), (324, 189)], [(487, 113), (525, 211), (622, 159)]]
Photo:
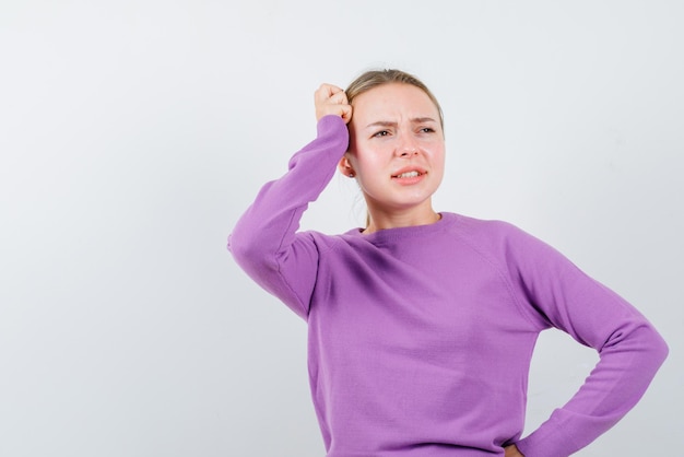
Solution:
[[(306, 324), (226, 238), (370, 68), (446, 118), (440, 211), (503, 219), (635, 304), (670, 344), (582, 457), (681, 454), (684, 3), (0, 3), (0, 455), (320, 457)], [(303, 228), (363, 223), (333, 178)], [(542, 335), (526, 433), (597, 361)]]

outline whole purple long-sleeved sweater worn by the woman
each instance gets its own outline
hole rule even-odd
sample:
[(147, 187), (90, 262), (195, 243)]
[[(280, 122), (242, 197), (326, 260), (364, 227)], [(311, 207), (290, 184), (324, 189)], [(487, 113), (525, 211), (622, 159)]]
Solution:
[[(335, 116), (228, 238), (240, 267), (308, 323), (329, 457), (568, 456), (639, 400), (668, 348), (633, 306), (515, 226), (441, 213), (369, 235), (298, 232), (347, 147)], [(535, 340), (594, 348), (579, 391), (521, 440)]]

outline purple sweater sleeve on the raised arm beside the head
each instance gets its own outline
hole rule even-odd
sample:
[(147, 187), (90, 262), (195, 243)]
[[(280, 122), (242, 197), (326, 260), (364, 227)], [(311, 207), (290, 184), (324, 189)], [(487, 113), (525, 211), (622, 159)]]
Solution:
[(303, 318), (316, 281), (318, 250), (312, 237), (297, 233), (308, 204), (328, 185), (349, 144), (338, 116), (326, 116), (317, 138), (298, 151), (287, 173), (266, 184), (228, 236), (237, 263), (263, 289)]

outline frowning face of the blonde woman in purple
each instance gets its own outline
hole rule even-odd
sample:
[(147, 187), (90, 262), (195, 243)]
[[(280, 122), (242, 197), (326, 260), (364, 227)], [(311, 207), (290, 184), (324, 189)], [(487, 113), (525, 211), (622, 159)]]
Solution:
[(432, 211), (444, 176), (439, 112), (421, 89), (384, 84), (352, 103), (350, 151), (340, 171), (353, 173), (369, 211)]

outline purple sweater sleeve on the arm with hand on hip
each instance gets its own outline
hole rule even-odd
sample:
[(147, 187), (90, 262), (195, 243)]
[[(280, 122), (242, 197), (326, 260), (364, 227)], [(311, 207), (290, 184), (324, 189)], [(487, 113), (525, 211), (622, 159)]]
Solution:
[(550, 246), (524, 233), (516, 236), (511, 245), (517, 251), (508, 256), (516, 286), (547, 325), (600, 355), (577, 394), (517, 443), (526, 457), (565, 457), (608, 431), (637, 403), (667, 358), (668, 347), (617, 294)]

